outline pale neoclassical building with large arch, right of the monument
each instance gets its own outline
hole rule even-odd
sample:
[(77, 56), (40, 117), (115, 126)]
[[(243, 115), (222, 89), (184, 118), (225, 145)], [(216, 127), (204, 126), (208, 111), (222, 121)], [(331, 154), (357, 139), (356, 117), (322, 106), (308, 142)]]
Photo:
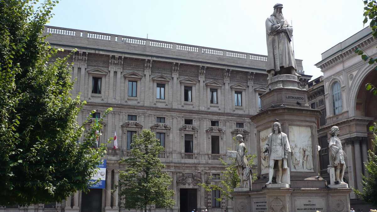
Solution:
[[(369, 28), (365, 28), (322, 53), (322, 60), (316, 64), (323, 72), (326, 124), (318, 130), (319, 145), (322, 147), (321, 174), (329, 180), (325, 169), (328, 164), (329, 130), (339, 126), (343, 149), (346, 153), (345, 180), (349, 186), (362, 190), (362, 175), (368, 175), (364, 163), (367, 151), (371, 149), (372, 134), (369, 126), (377, 121), (377, 97), (365, 90), (366, 83), (376, 84), (375, 65), (369, 65), (355, 54), (360, 48), (371, 57), (376, 57), (377, 42)], [(310, 84), (310, 83), (309, 83)], [(327, 158), (327, 161), (326, 161)], [(351, 193), (351, 207), (368, 211), (363, 203)]]

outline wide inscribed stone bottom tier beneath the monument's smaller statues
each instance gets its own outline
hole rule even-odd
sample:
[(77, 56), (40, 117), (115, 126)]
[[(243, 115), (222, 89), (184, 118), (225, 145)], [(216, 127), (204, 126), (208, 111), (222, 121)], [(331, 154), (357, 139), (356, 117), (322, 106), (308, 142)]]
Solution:
[(349, 212), (350, 192), (348, 188), (266, 188), (231, 195), (237, 212)]

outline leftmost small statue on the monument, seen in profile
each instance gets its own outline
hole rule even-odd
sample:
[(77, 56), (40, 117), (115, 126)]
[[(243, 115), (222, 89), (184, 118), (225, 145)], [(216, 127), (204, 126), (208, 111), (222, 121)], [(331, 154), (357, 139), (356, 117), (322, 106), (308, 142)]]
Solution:
[(250, 186), (250, 167), (245, 155), (246, 145), (242, 135), (237, 135), (236, 140), (239, 142), (236, 156), (237, 174), (241, 179), (240, 187), (248, 188)]

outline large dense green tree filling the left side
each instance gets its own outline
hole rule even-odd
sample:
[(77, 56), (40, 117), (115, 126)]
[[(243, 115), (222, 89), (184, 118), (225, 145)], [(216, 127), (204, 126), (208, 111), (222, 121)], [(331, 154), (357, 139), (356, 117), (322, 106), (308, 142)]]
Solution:
[(61, 201), (86, 190), (105, 151), (92, 148), (77, 114), (85, 102), (69, 93), (69, 56), (52, 62), (42, 31), (58, 1), (0, 1), (0, 205)]

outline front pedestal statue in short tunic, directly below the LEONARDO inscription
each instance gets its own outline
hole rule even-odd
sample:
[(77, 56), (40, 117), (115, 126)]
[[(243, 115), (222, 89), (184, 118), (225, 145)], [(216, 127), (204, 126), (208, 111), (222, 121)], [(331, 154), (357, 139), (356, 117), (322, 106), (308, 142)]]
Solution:
[(272, 132), (268, 138), (265, 148), (265, 155), (268, 155), (268, 182), (266, 185), (272, 183), (274, 175), (274, 167), (276, 172), (276, 183), (282, 183), (283, 169), (287, 169), (288, 154), (291, 152), (287, 134), (282, 132), (279, 122), (275, 122), (272, 127)]

